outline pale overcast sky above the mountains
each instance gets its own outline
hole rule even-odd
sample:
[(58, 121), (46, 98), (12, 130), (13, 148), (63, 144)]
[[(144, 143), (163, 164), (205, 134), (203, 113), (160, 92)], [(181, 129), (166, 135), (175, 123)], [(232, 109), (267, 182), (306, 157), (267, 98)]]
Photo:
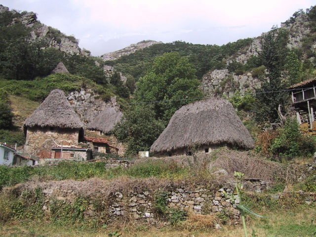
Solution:
[(316, 0), (1, 0), (99, 56), (141, 40), (225, 44), (260, 36)]

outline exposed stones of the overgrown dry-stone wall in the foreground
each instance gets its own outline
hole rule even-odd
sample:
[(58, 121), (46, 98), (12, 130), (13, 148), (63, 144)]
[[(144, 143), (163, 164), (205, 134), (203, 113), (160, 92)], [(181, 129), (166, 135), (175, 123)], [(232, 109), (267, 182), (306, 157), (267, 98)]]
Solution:
[[(169, 188), (158, 191), (129, 190), (127, 192), (113, 192), (109, 200), (104, 201), (104, 209), (110, 221), (118, 218), (129, 218), (134, 221), (145, 221), (148, 223), (156, 222), (159, 217), (155, 208), (155, 200), (164, 198), (166, 206), (172, 209), (181, 209), (192, 211), (196, 214), (216, 214), (225, 212), (232, 217), (231, 223), (239, 223), (239, 211), (236, 205), (231, 203), (229, 196), (231, 189), (220, 189), (217, 192), (205, 187), (196, 187), (188, 189), (185, 187)], [(67, 203), (73, 203), (76, 199), (74, 190), (60, 190), (57, 188), (43, 189), (44, 205), (43, 210), (46, 217), (50, 215), (50, 203), (59, 200)], [(236, 196), (237, 197), (237, 196)], [(85, 210), (85, 217), (96, 217), (97, 211), (93, 205), (95, 200), (89, 201), (88, 208)], [(238, 203), (238, 201), (237, 201)]]

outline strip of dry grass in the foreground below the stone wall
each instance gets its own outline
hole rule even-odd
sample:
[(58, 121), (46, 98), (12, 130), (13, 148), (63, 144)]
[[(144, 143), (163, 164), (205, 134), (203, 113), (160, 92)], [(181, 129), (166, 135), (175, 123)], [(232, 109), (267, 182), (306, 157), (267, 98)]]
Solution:
[[(265, 212), (267, 218), (248, 220), (248, 231), (256, 237), (314, 237), (316, 236), (316, 207), (301, 206), (295, 210)], [(149, 227), (121, 223), (97, 231), (75, 227), (50, 225), (32, 220), (0, 224), (1, 237), (108, 237), (118, 231), (121, 237), (242, 237), (243, 229), (223, 227), (220, 230), (191, 230), (187, 225), (176, 227)], [(251, 234), (249, 235), (251, 236)]]

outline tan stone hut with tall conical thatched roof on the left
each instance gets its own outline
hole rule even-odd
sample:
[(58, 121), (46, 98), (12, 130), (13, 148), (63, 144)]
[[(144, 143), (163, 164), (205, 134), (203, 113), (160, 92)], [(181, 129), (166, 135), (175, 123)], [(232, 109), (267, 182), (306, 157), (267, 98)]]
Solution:
[(24, 151), (38, 155), (58, 145), (78, 146), (83, 138), (83, 123), (71, 108), (65, 93), (54, 89), (24, 122)]

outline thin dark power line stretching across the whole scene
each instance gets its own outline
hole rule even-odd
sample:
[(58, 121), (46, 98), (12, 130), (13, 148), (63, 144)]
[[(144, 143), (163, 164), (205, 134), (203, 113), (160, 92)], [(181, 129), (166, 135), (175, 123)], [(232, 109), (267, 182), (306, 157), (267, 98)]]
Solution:
[[(286, 90), (275, 90), (275, 91), (263, 91), (263, 92), (252, 92), (246, 93), (240, 96), (246, 95), (255, 95), (255, 94), (267, 94), (267, 93), (276, 93), (276, 92), (286, 92), (286, 91), (295, 91), (295, 90), (306, 90), (306, 89), (313, 89), (314, 87), (306, 87), (306, 88), (298, 88), (298, 89), (286, 89)], [(186, 98), (186, 99), (178, 99), (178, 100), (158, 100), (158, 101), (145, 101), (145, 102), (135, 102), (135, 103), (127, 103), (127, 104), (118, 104), (119, 106), (126, 106), (126, 105), (140, 105), (140, 104), (156, 104), (156, 103), (168, 103), (168, 102), (177, 102), (177, 101), (189, 101), (189, 100), (206, 100), (206, 99), (216, 99), (216, 98), (227, 98), (226, 96), (213, 96), (213, 97), (199, 97), (199, 98)], [(79, 108), (99, 108), (99, 107), (112, 107), (112, 105), (95, 105), (95, 106), (75, 106), (71, 107), (72, 109), (79, 109)], [(54, 110), (65, 110), (67, 108), (54, 108)], [(40, 111), (39, 109), (33, 110), (0, 110), (0, 112), (19, 112), (19, 111)]]

